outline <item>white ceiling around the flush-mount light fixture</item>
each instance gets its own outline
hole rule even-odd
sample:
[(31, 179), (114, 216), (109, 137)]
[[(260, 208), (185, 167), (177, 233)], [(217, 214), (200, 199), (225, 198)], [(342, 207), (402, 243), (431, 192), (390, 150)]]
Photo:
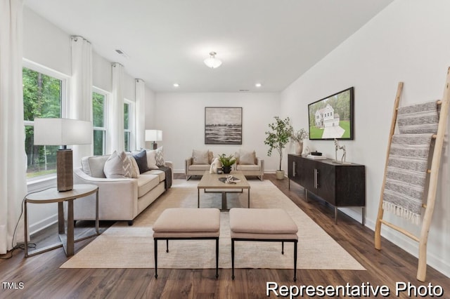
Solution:
[[(91, 41), (96, 53), (122, 63), (155, 92), (277, 92), (392, 1), (25, 0), (25, 5)], [(217, 52), (221, 67), (203, 64), (210, 51)], [(262, 87), (256, 88), (257, 82)]]

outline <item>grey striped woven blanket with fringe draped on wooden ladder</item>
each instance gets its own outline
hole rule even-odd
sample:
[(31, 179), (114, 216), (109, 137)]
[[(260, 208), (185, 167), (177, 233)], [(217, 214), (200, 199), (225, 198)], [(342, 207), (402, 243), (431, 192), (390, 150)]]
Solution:
[(392, 136), (383, 210), (420, 223), (432, 135), (437, 133), (437, 104), (399, 107), (399, 134)]

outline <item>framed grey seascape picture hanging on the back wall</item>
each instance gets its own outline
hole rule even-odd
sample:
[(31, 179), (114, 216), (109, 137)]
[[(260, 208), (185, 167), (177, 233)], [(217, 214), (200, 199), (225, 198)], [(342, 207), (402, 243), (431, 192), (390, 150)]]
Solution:
[(205, 107), (205, 145), (242, 145), (242, 107)]

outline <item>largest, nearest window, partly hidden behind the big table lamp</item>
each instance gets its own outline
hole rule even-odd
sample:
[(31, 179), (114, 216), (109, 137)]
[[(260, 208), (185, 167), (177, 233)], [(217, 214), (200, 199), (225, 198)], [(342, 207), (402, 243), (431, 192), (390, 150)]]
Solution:
[(56, 173), (58, 146), (34, 145), (34, 118), (63, 117), (66, 80), (38, 66), (23, 67), (22, 76), (27, 178)]

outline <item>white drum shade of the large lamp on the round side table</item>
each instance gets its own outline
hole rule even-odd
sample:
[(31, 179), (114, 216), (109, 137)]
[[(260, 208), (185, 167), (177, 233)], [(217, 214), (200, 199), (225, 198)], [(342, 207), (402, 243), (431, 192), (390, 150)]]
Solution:
[(90, 145), (92, 122), (78, 119), (34, 119), (34, 145)]

